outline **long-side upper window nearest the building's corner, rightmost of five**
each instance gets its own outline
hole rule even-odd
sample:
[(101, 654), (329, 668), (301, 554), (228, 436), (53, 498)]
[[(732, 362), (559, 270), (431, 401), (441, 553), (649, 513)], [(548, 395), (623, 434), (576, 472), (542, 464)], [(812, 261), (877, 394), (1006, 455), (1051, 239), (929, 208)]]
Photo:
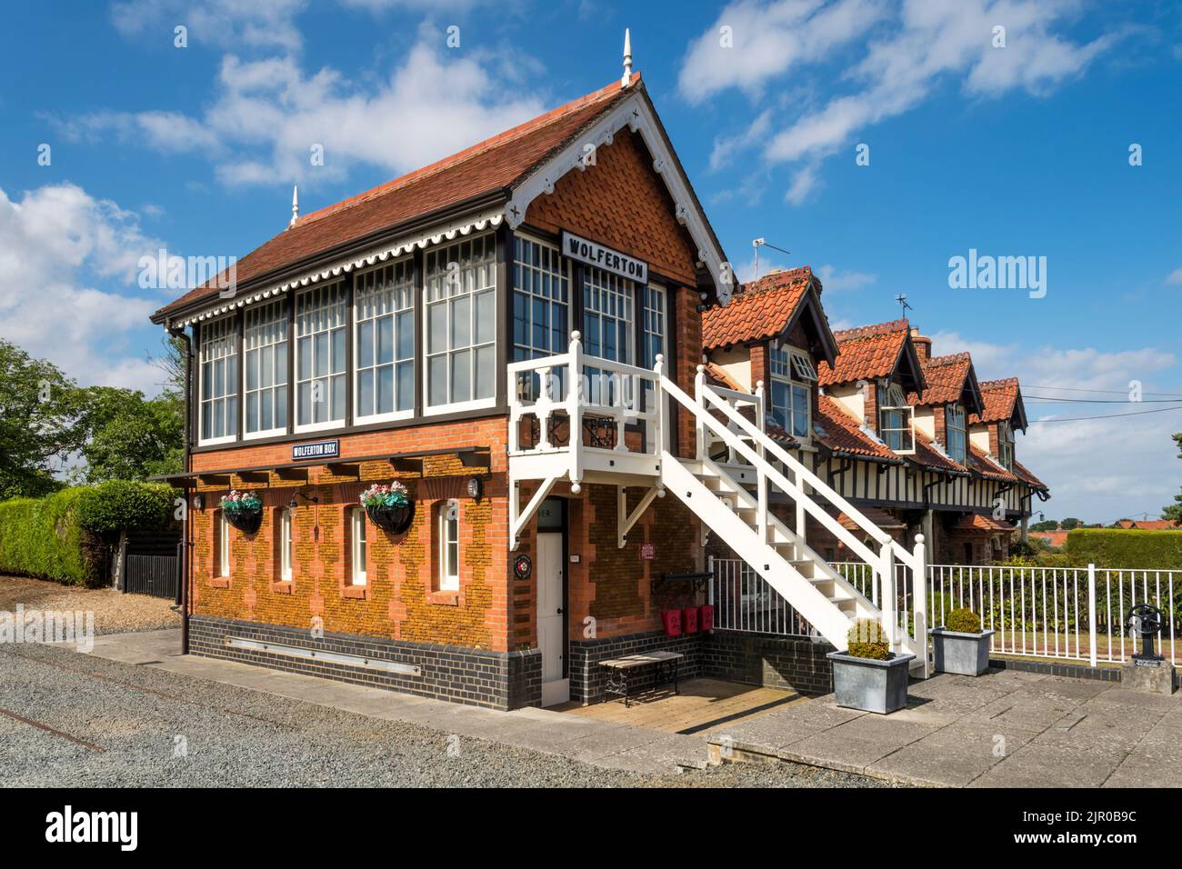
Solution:
[(488, 406), (496, 388), (496, 240), (426, 257), (427, 411)]

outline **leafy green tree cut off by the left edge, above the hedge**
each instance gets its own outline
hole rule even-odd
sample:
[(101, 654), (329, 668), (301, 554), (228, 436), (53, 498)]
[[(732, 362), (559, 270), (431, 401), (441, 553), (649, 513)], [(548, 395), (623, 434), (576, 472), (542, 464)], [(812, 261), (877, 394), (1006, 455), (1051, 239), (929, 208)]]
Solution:
[(61, 488), (82, 442), (82, 391), (56, 365), (0, 338), (0, 500)]

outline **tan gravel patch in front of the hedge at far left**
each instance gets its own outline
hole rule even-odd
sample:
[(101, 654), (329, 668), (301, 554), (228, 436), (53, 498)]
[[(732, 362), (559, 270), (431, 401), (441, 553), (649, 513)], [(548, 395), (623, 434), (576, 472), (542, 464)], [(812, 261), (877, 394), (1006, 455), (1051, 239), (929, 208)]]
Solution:
[(148, 595), (124, 595), (115, 589), (84, 589), (48, 579), (0, 576), (0, 611), (25, 609), (93, 611), (96, 634), (126, 634), (181, 627), (173, 602)]

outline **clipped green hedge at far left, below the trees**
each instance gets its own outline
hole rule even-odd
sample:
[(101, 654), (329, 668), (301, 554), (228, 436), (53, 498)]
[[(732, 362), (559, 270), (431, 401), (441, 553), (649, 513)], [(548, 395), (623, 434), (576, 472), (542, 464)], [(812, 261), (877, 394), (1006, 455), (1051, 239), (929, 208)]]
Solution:
[(173, 498), (162, 484), (116, 480), (0, 501), (0, 573), (102, 585), (111, 536), (167, 526)]

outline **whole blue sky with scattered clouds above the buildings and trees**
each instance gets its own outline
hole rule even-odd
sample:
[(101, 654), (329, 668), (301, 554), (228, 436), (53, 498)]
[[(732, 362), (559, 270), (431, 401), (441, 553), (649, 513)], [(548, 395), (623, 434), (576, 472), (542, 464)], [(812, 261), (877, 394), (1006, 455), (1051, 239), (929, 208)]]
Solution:
[[(142, 288), (142, 257), (245, 255), (296, 183), (310, 213), (618, 79), (625, 27), (741, 278), (764, 238), (790, 253), (762, 248), (760, 272), (812, 266), (834, 329), (904, 294), (936, 355), (1018, 376), (1047, 518), (1173, 500), (1182, 6), (1164, 1), (9, 5), (0, 336), (152, 394), (148, 314), (180, 291)], [(1039, 281), (956, 285), (970, 251), (1030, 258)]]

